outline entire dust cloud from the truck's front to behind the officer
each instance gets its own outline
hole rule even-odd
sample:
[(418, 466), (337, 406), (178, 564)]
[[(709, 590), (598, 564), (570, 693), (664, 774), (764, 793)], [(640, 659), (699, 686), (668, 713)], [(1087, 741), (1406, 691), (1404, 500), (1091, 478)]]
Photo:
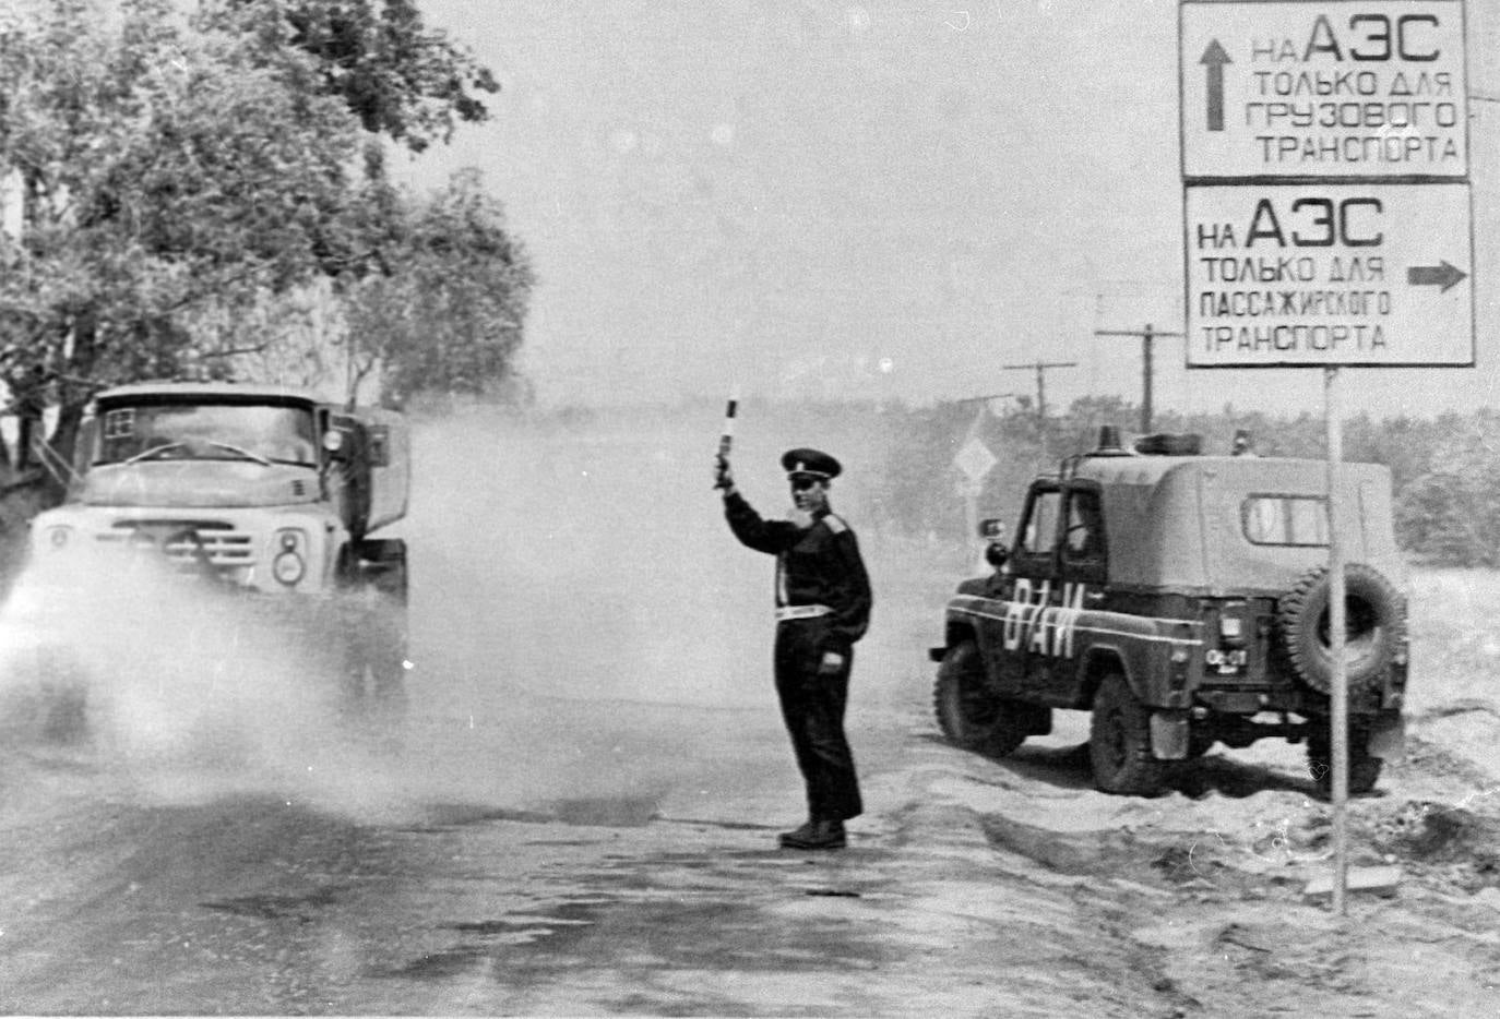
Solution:
[[(0, 725), (39, 721), (24, 617), (63, 584), (74, 595), (62, 643), (90, 689), (76, 752), (153, 802), (273, 796), (390, 820), (657, 800), (730, 743), (782, 742), (772, 565), (724, 526), (712, 409), (567, 424), (468, 409), (414, 426), (410, 514), (381, 532), (406, 539), (411, 569), (399, 724), (340, 713), (336, 667), (320, 659), (332, 634), (298, 643), (246, 628), (244, 598), (92, 566), (28, 572), (0, 610)], [(876, 459), (867, 438), (774, 421), (741, 432), (736, 478), (765, 515), (788, 502), (782, 450), (819, 445), (846, 465), (834, 507), (860, 527), (861, 471)], [(921, 647), (882, 631), (879, 542), (861, 541), (878, 605), (854, 703), (880, 706), (906, 691), (876, 677), (904, 683)], [(891, 656), (902, 662), (882, 667)]]

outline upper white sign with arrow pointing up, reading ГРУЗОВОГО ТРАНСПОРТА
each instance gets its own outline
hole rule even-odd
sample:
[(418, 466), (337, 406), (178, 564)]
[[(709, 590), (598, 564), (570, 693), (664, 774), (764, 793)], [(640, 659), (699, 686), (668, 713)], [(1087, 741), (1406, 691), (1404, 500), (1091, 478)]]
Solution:
[(1182, 0), (1182, 175), (1464, 178), (1462, 0)]

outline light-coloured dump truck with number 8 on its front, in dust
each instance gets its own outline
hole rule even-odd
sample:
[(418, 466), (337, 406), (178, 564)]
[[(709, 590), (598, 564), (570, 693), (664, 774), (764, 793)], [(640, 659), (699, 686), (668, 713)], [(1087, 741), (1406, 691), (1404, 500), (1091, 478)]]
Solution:
[[(88, 592), (130, 596), (132, 577), (148, 566), (189, 592), (178, 604), (201, 592), (230, 607), (218, 619), (236, 634), (213, 644), (218, 656), (242, 646), (309, 649), (318, 662), (308, 674), (334, 676), (344, 706), (399, 709), (406, 544), (380, 532), (405, 515), (408, 489), (410, 438), (394, 412), (280, 385), (100, 391), (64, 502), (32, 520), (22, 583), (0, 617), (6, 668), (40, 662), (48, 730), (75, 730), (87, 688), (110, 679), (69, 670), (58, 634)], [(96, 614), (104, 620), (90, 625), (108, 628), (130, 613)]]

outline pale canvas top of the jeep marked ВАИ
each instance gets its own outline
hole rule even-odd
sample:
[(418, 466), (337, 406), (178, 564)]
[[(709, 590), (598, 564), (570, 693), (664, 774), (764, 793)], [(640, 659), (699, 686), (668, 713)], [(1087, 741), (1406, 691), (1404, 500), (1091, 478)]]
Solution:
[[(1328, 493), (1328, 463), (1281, 457), (1086, 456), (1066, 481), (1095, 483), (1104, 511), (1108, 583), (1184, 593), (1281, 593), (1328, 560), (1322, 541), (1251, 536), (1250, 514)], [(1390, 472), (1341, 468), (1344, 557), (1404, 575), (1390, 524)], [(1262, 502), (1264, 501), (1264, 502)]]

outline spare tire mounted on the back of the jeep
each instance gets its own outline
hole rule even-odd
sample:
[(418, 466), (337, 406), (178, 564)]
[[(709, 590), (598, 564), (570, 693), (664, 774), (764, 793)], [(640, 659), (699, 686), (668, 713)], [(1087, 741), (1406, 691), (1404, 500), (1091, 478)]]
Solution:
[[(1320, 694), (1332, 689), (1328, 566), (1305, 572), (1276, 605), (1281, 638), (1298, 679)], [(1344, 566), (1344, 662), (1352, 688), (1388, 670), (1406, 643), (1406, 599), (1365, 563)]]

